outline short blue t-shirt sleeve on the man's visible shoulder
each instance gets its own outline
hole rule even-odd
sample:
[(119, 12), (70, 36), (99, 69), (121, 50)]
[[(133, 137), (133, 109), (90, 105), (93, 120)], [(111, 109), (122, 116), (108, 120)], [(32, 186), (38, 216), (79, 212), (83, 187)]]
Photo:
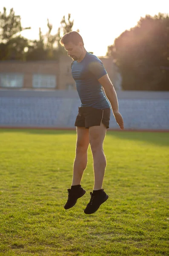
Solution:
[(92, 73), (96, 79), (100, 79), (102, 76), (107, 74), (103, 63), (100, 60), (91, 61), (89, 63), (89, 72)]

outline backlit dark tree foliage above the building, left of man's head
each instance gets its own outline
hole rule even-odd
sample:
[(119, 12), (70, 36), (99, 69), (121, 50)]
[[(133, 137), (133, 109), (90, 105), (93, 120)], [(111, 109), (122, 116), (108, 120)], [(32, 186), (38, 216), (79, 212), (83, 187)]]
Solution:
[(43, 35), (39, 28), (39, 40), (28, 40), (20, 35), (25, 29), (21, 26), (21, 17), (15, 15), (11, 8), (9, 15), (6, 8), (0, 12), (0, 60), (57, 60), (60, 55), (65, 54), (60, 46), (60, 34), (72, 31), (74, 20), (68, 15), (66, 20), (63, 16), (61, 26), (57, 33), (52, 35), (52, 24), (47, 20), (48, 32)]

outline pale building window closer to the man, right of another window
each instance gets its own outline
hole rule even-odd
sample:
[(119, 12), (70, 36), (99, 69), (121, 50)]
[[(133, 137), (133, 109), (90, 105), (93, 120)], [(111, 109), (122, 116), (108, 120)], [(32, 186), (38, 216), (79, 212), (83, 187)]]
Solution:
[(56, 76), (54, 75), (33, 75), (33, 88), (55, 88)]

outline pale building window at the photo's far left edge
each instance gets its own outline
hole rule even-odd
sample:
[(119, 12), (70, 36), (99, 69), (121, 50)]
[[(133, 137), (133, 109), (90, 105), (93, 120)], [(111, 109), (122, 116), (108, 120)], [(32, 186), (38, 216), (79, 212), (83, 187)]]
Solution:
[(23, 87), (23, 74), (0, 73), (0, 87), (11, 87), (11, 88)]

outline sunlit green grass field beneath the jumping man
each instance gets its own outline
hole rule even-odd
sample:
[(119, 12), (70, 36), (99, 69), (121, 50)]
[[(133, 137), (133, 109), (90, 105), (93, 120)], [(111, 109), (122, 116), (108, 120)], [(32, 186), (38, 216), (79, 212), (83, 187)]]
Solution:
[(108, 201), (65, 210), (75, 131), (0, 129), (0, 256), (169, 255), (169, 133), (107, 132)]

